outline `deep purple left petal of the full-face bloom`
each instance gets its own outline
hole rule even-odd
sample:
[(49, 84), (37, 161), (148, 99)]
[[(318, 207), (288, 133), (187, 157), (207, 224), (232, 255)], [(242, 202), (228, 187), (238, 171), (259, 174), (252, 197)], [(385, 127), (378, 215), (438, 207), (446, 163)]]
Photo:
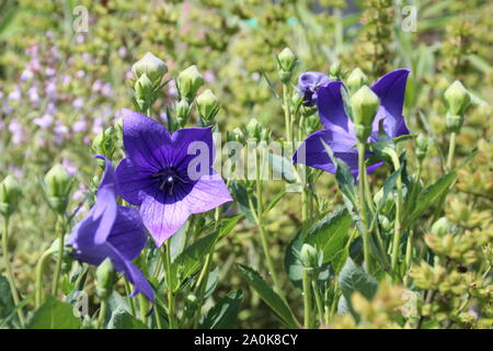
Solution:
[(137, 167), (129, 158), (124, 158), (116, 168), (122, 197), (139, 206), (146, 194), (159, 188), (159, 179), (152, 178), (152, 173), (150, 169)]

